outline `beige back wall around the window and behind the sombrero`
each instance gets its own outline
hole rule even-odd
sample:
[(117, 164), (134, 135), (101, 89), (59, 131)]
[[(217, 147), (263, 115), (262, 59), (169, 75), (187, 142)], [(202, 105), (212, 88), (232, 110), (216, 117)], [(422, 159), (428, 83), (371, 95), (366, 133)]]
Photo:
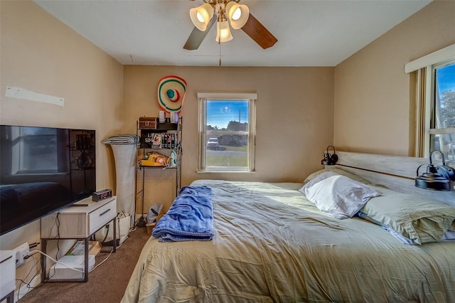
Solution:
[[(195, 179), (299, 182), (322, 169), (322, 151), (333, 138), (333, 68), (125, 66), (125, 130), (135, 133), (140, 116), (158, 117), (157, 87), (166, 75), (188, 83), (181, 112), (183, 185)], [(196, 173), (198, 92), (257, 92), (255, 173)], [(172, 201), (173, 184), (161, 174), (156, 169), (146, 172), (145, 209)]]

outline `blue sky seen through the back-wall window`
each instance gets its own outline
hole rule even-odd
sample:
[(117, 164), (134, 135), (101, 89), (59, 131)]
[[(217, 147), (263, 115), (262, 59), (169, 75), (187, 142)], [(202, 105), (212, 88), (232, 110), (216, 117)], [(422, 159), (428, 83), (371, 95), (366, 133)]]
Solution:
[(247, 100), (207, 100), (207, 125), (223, 129), (230, 121), (248, 122)]

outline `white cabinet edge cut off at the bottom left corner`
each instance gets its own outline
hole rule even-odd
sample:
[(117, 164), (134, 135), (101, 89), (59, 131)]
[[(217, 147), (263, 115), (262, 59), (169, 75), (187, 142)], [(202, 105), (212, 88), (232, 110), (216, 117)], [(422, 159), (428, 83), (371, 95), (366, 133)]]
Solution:
[(16, 252), (0, 250), (0, 302), (14, 303), (16, 289)]

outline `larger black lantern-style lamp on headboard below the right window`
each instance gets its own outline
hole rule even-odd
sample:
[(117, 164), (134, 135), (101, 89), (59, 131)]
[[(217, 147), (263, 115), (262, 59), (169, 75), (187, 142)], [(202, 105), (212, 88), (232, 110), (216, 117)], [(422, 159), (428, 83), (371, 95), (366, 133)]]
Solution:
[[(432, 163), (432, 155), (435, 151), (438, 151), (442, 156), (442, 165), (434, 165)], [(419, 169), (422, 164), (417, 167), (417, 177), (415, 178), (415, 186), (424, 189), (432, 189), (434, 191), (450, 191), (450, 181), (455, 181), (455, 169), (450, 166), (446, 166), (444, 161), (444, 154), (439, 150), (431, 151), (429, 154), (429, 165), (427, 166), (427, 172), (419, 176)]]

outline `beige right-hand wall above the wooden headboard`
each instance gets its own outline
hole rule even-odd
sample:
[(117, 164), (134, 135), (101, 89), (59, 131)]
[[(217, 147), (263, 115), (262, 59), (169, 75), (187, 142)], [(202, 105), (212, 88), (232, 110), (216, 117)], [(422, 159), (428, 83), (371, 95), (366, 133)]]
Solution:
[(455, 43), (455, 1), (434, 1), (335, 68), (340, 150), (414, 155), (414, 83), (405, 63)]

